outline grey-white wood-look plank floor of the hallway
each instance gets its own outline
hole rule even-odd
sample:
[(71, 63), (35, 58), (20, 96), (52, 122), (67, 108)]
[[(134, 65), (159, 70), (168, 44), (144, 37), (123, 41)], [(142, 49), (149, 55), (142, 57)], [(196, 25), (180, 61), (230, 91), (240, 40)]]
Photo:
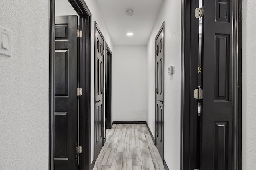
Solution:
[(145, 124), (114, 124), (93, 170), (164, 170)]

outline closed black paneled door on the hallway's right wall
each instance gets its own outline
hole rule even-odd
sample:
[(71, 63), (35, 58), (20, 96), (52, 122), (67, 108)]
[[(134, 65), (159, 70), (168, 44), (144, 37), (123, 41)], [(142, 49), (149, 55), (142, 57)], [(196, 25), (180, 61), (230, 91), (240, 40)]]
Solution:
[(156, 51), (156, 147), (164, 159), (164, 23), (155, 39)]

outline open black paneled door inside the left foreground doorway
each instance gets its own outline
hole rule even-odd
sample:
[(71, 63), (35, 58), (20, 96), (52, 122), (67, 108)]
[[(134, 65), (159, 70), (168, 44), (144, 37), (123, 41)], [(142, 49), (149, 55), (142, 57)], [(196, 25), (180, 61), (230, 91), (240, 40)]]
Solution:
[(77, 16), (55, 17), (55, 170), (77, 169)]

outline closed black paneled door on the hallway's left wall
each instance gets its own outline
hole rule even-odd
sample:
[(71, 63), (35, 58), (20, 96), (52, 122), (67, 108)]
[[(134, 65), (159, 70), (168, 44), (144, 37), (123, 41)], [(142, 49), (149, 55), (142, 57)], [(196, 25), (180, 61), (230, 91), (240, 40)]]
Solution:
[(94, 160), (103, 147), (103, 59), (104, 37), (95, 22), (95, 65), (94, 65)]

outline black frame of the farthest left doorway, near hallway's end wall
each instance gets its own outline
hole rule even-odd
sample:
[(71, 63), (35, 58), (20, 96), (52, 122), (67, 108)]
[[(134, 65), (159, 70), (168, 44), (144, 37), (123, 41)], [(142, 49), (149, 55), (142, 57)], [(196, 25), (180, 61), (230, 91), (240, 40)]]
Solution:
[[(110, 112), (108, 112), (108, 110), (106, 109), (106, 128), (107, 129), (111, 129), (111, 127), (112, 127), (112, 122), (111, 122), (111, 114), (112, 114), (112, 109), (111, 109), (111, 106), (112, 106), (112, 101), (111, 101), (111, 99), (112, 99), (112, 51), (110, 50), (110, 48), (109, 48), (109, 46), (108, 46), (108, 43), (106, 42), (105, 43), (106, 44), (106, 69), (108, 69), (108, 60), (107, 60), (107, 58), (108, 58), (108, 54), (110, 55), (110, 72), (109, 73), (107, 73), (109, 76), (110, 76), (110, 82), (109, 82), (109, 84), (108, 84), (108, 86), (106, 86), (106, 94), (107, 94), (107, 89), (108, 88), (110, 88), (110, 92), (109, 92), (109, 94), (108, 94), (108, 98), (106, 98), (107, 100), (109, 100), (110, 101), (110, 106), (107, 106), (107, 101), (106, 101), (106, 108), (108, 107), (110, 107)], [(106, 75), (106, 78), (108, 78), (108, 76)], [(106, 80), (106, 83), (107, 83), (107, 81), (108, 80)], [(109, 87), (110, 86), (110, 87)], [(107, 117), (108, 117), (108, 119), (107, 119)], [(105, 131), (105, 134), (106, 134), (106, 131)]]

